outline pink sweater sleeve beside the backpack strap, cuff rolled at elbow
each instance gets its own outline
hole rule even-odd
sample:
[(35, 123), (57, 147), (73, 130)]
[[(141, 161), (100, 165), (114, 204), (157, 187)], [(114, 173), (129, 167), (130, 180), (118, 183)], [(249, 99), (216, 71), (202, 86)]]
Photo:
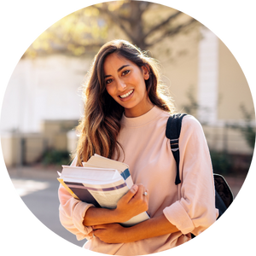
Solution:
[(207, 140), (193, 116), (183, 118), (179, 151), (180, 199), (163, 212), (183, 235), (191, 232), (200, 237), (216, 225), (218, 209)]

